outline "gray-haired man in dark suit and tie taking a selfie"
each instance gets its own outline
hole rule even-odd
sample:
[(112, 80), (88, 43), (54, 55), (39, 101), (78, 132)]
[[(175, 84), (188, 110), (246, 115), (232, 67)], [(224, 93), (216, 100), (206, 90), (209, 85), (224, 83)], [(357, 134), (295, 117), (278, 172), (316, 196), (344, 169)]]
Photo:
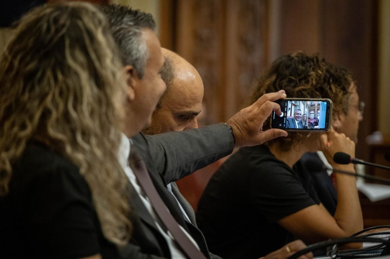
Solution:
[[(101, 10), (107, 14), (121, 50), (128, 83), (124, 133), (131, 143), (122, 138), (119, 161), (130, 182), (133, 231), (128, 245), (122, 247), (123, 256), (210, 259), (202, 233), (184, 220), (166, 185), (230, 154), (234, 147), (286, 136), (280, 129), (261, 130), (273, 110), (281, 114), (273, 101), (286, 95), (283, 90), (265, 94), (226, 124), (155, 136), (139, 134), (151, 124), (152, 112), (166, 88), (160, 76), (164, 58), (153, 32), (155, 24), (150, 14), (128, 7), (108, 5)], [(303, 247), (302, 242), (293, 242), (268, 256), (284, 259)]]

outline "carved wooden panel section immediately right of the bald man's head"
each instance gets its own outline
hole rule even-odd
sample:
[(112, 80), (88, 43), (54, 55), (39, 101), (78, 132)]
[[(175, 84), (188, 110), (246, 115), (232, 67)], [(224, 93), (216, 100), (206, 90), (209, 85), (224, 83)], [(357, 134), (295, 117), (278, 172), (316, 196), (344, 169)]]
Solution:
[(203, 79), (204, 105), (209, 122), (220, 121), (222, 110), (224, 19), (223, 0), (178, 2), (176, 50)]

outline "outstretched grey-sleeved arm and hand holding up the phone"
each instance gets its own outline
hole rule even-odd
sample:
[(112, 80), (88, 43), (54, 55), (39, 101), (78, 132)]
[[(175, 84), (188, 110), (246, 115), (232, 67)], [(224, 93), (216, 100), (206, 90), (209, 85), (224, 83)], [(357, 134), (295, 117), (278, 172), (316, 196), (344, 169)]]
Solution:
[(285, 97), (283, 90), (264, 94), (227, 121), (231, 130), (220, 123), (153, 136), (138, 134), (132, 140), (147, 166), (161, 173), (168, 184), (229, 155), (234, 147), (259, 145), (287, 136), (281, 129), (262, 131), (272, 111), (281, 114), (280, 106), (273, 101)]

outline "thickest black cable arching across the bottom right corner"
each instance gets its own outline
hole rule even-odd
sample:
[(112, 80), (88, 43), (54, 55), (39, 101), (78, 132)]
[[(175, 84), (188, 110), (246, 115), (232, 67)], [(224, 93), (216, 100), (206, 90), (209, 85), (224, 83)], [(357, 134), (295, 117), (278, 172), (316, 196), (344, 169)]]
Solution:
[(317, 249), (322, 249), (324, 247), (328, 247), (331, 245), (344, 245), (346, 243), (360, 243), (360, 242), (370, 242), (370, 243), (385, 243), (390, 245), (389, 240), (382, 240), (379, 238), (368, 238), (368, 237), (348, 237), (348, 238), (338, 238), (338, 239), (332, 239), (328, 241), (318, 242), (313, 245), (308, 245), (305, 249), (302, 249), (292, 256), (288, 257), (287, 259), (296, 259), (304, 254), (307, 254), (309, 252), (312, 252)]

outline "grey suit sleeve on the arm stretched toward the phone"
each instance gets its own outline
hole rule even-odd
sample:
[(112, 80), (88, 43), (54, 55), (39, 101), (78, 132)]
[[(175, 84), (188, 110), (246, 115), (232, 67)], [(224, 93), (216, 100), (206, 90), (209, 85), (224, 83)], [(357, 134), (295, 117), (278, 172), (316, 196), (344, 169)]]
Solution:
[(152, 164), (166, 184), (229, 155), (234, 147), (232, 133), (222, 123), (131, 139), (147, 166)]

